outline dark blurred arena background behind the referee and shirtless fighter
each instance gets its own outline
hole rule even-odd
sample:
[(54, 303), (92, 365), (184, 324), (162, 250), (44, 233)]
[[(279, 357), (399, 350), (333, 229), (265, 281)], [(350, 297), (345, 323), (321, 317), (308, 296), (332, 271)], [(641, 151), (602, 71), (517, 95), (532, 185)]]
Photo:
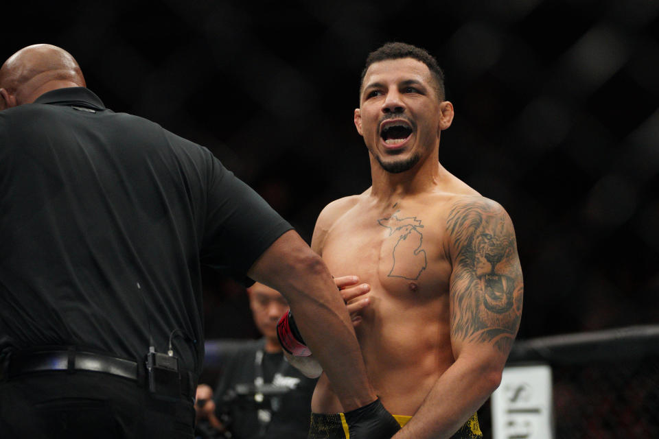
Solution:
[[(4, 2), (3, 2), (4, 3)], [(424, 47), (456, 109), (440, 161), (513, 218), (520, 338), (659, 322), (659, 3), (69, 1), (2, 6), (0, 57), (67, 49), (87, 84), (209, 147), (310, 240), (370, 185), (352, 118), (369, 51)], [(208, 337), (253, 337), (206, 274)]]

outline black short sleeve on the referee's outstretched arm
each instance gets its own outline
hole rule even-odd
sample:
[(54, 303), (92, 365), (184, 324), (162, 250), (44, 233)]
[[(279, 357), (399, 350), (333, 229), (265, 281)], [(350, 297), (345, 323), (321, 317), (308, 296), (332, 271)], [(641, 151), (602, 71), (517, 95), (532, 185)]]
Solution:
[(201, 262), (251, 285), (247, 270), (292, 226), (217, 158), (209, 162)]

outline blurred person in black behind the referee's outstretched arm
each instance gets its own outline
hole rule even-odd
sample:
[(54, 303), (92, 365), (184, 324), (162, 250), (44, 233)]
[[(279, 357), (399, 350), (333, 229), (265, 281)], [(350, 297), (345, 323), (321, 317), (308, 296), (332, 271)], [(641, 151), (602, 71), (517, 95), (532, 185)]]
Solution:
[[(220, 344), (220, 378), (214, 414), (237, 439), (307, 437), (315, 379), (291, 366), (277, 340), (277, 322), (288, 303), (275, 289), (255, 283), (247, 289), (259, 340)], [(211, 416), (204, 426), (212, 423)], [(204, 427), (202, 427), (204, 428)]]

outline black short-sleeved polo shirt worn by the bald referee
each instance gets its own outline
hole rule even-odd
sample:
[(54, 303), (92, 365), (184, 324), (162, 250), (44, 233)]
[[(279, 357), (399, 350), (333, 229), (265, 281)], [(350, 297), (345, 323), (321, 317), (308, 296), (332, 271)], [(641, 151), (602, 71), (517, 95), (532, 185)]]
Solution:
[(86, 88), (0, 112), (0, 353), (78, 345), (198, 374), (200, 264), (243, 278), (290, 225), (204, 147)]

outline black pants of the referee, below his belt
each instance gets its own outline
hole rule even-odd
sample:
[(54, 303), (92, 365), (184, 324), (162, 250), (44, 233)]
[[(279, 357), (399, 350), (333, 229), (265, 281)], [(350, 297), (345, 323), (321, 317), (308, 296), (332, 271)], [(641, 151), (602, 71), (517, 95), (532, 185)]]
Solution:
[(135, 381), (98, 372), (0, 381), (0, 437), (192, 439), (192, 401), (161, 399)]

